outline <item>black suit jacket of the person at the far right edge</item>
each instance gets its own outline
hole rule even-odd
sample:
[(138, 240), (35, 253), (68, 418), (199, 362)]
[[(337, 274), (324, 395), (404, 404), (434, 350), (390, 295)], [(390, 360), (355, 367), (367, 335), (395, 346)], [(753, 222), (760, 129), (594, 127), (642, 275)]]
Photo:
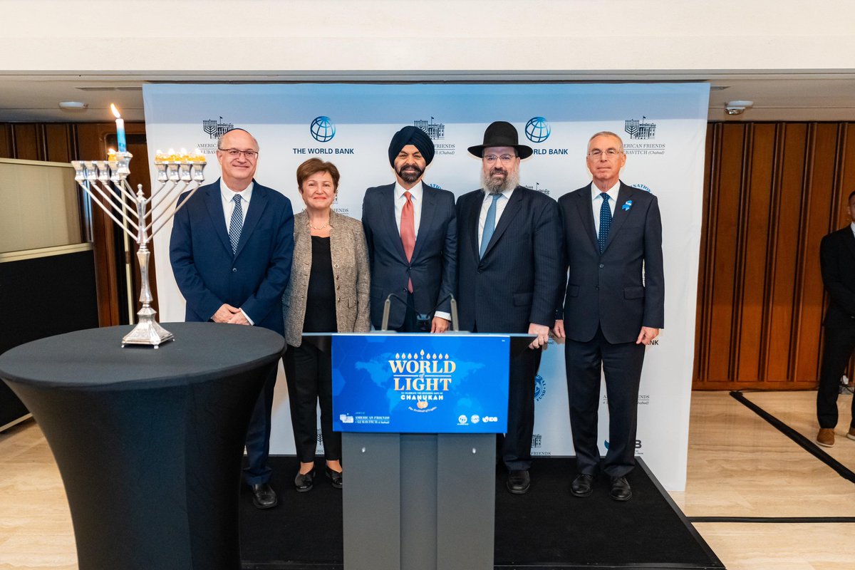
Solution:
[(830, 301), (824, 326), (855, 328), (855, 234), (846, 226), (819, 244), (819, 267)]

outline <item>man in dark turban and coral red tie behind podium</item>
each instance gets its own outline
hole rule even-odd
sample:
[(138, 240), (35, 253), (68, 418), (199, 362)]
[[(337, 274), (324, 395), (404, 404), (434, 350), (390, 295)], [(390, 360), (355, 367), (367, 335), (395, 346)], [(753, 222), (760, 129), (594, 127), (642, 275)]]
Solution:
[[(380, 330), (390, 294), (390, 330), (445, 332), (457, 285), (454, 194), (423, 184), (433, 142), (404, 126), (389, 144), (395, 183), (365, 191), (363, 229), (371, 263), (371, 324)], [(418, 318), (417, 315), (426, 315)]]

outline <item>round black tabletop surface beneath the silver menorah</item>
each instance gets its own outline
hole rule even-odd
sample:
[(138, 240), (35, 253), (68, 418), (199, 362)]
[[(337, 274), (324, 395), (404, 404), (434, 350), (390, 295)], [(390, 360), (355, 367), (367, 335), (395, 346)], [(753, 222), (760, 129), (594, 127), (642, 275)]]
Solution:
[[(46, 386), (139, 389), (187, 385), (275, 361), (285, 339), (260, 326), (162, 323), (175, 340), (121, 348), (132, 326), (68, 332), (0, 355), (0, 378)], [(121, 386), (116, 386), (121, 385)]]

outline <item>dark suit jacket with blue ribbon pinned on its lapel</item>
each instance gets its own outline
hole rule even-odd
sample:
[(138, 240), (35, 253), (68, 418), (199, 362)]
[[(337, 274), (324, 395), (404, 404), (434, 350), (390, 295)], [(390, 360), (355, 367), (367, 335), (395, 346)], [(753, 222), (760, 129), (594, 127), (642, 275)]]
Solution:
[[(628, 201), (632, 204), (625, 208)], [(610, 343), (630, 343), (641, 326), (662, 328), (665, 278), (657, 197), (621, 182), (602, 255), (591, 185), (560, 197), (558, 206), (569, 269), (563, 306), (568, 338), (586, 342), (600, 326)]]

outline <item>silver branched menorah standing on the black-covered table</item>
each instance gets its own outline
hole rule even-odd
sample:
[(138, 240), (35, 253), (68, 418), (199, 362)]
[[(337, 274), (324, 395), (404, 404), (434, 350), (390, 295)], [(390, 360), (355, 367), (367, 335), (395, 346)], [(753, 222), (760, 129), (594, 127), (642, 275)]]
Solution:
[[(202, 185), (205, 159), (198, 151), (190, 156), (185, 153), (177, 155), (174, 152), (163, 155), (158, 151), (155, 167), (157, 182), (160, 185), (146, 198), (143, 196), (143, 185), (137, 185), (137, 193), (134, 194), (131, 185), (127, 183), (127, 177), (131, 173), (128, 167), (131, 158), (133, 155), (129, 152), (111, 151), (106, 161), (72, 161), (71, 164), (74, 167), (74, 180), (90, 197), (91, 203), (103, 209), (105, 214), (139, 244), (137, 259), (142, 285), (139, 301), (143, 306), (137, 313), (137, 326), (121, 339), (121, 345), (124, 347), (126, 344), (143, 344), (157, 348), (158, 345), (173, 340), (174, 336), (157, 323), (156, 310), (151, 309), (149, 242), (187, 203), (187, 200), (184, 200), (177, 208), (173, 208), (181, 194), (190, 191), (192, 196)], [(159, 213), (155, 215), (154, 209), (149, 205), (156, 196), (162, 199), (159, 201)], [(129, 203), (133, 203), (135, 210), (129, 208)], [(119, 217), (115, 213), (118, 213)]]

